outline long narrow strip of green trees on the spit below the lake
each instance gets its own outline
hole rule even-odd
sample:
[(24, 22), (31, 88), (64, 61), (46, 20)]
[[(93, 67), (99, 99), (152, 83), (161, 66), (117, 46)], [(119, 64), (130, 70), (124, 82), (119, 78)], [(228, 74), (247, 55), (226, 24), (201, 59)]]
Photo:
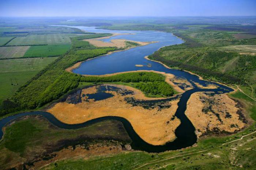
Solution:
[(165, 77), (154, 72), (133, 72), (122, 73), (114, 76), (99, 77), (86, 76), (81, 77), (82, 82), (156, 82), (165, 81)]

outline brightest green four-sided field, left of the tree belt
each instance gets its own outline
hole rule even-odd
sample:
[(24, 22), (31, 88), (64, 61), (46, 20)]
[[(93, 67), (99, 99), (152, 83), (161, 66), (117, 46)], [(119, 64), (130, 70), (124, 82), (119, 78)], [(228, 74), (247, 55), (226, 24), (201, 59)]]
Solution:
[(49, 57), (66, 53), (70, 49), (70, 44), (31, 46), (23, 57)]

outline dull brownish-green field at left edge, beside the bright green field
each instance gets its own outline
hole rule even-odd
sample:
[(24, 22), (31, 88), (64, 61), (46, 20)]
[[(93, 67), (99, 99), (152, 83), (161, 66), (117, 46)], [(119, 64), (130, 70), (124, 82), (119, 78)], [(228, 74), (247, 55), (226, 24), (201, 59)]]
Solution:
[(0, 58), (23, 57), (30, 46), (0, 47)]

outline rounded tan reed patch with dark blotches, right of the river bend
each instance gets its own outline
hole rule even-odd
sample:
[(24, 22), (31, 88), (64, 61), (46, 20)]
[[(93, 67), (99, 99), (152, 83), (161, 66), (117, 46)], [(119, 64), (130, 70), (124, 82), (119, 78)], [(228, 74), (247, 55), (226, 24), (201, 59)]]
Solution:
[(188, 100), (185, 115), (195, 126), (198, 137), (229, 134), (241, 130), (246, 125), (239, 104), (227, 94), (212, 96), (204, 92), (193, 93)]

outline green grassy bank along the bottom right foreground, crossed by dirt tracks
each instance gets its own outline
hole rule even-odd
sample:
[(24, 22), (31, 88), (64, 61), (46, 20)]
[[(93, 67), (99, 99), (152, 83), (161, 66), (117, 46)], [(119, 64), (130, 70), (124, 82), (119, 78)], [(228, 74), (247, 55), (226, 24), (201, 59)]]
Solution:
[[(256, 102), (240, 92), (230, 94), (242, 100), (246, 111), (256, 120)], [(111, 157), (94, 157), (89, 160), (67, 159), (45, 169), (253, 169), (256, 166), (255, 123), (234, 135), (201, 138), (197, 146), (178, 151), (149, 154), (146, 152), (120, 153)], [(242, 140), (242, 136), (245, 136)], [(224, 144), (237, 140), (230, 144)], [(143, 167), (140, 167), (143, 166)], [(140, 168), (139, 168), (140, 167)]]

